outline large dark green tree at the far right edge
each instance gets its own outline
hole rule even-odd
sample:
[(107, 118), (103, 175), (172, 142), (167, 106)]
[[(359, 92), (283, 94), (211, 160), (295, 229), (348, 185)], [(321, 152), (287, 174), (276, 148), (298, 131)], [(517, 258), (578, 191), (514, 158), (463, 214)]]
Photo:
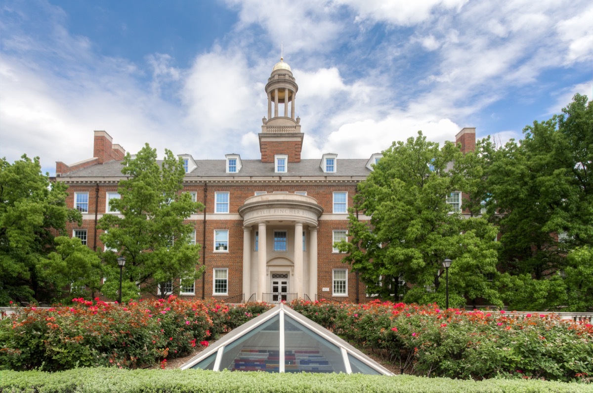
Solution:
[(508, 299), (521, 308), (571, 306), (576, 298), (558, 274), (567, 277), (573, 250), (593, 245), (593, 103), (576, 94), (562, 114), (534, 122), (524, 135), (498, 149), (478, 146), (487, 157), (489, 218), (502, 234), (500, 268), (521, 277), (517, 285), (533, 302), (520, 301), (513, 285)]

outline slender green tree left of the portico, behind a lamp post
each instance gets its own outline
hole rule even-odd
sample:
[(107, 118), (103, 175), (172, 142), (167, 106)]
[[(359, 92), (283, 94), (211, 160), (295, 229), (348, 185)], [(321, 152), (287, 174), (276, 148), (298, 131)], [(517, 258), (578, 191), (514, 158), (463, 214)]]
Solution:
[(135, 158), (127, 154), (122, 165), (127, 178), (119, 183), (120, 199), (110, 200), (110, 209), (119, 214), (106, 214), (98, 222), (106, 231), (100, 238), (108, 250), (103, 253), (103, 293), (117, 298), (117, 253), (126, 258), (123, 298), (136, 297), (139, 291), (164, 297), (165, 288), (177, 292), (179, 280), (194, 282), (202, 273), (196, 270), (200, 245), (190, 239), (195, 228), (184, 220), (203, 205), (181, 193), (183, 162), (167, 149), (158, 162), (156, 149), (146, 144)]

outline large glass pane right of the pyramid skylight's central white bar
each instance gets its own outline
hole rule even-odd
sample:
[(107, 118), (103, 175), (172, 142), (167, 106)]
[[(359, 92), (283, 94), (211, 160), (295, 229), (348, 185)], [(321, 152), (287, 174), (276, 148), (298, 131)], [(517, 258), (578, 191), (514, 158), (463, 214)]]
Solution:
[(285, 372), (346, 372), (340, 348), (284, 315)]

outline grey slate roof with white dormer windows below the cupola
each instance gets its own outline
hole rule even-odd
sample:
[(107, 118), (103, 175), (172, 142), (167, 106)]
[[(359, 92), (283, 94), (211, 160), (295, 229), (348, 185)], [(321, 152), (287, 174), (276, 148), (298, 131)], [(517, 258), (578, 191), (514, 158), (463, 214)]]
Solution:
[[(159, 161), (162, 162), (162, 161)], [(283, 173), (274, 172), (273, 162), (262, 162), (259, 159), (242, 159), (243, 168), (239, 172), (227, 173), (227, 161), (219, 160), (196, 160), (197, 168), (186, 174), (190, 180), (192, 177), (343, 177), (361, 176), (366, 177), (371, 172), (366, 168), (368, 159), (337, 159), (336, 172), (326, 173), (321, 170), (320, 159), (302, 159), (301, 162), (289, 162), (288, 171)], [(92, 165), (91, 167), (60, 175), (60, 178), (84, 178), (84, 177), (122, 177), (122, 161), (109, 161), (104, 164)]]

